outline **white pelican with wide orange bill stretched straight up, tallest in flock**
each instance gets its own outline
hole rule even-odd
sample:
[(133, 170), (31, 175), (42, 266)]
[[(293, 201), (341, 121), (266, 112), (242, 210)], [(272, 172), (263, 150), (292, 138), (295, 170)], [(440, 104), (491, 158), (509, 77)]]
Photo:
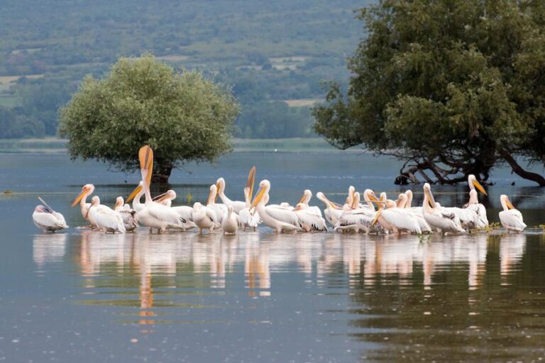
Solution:
[(145, 207), (138, 212), (136, 218), (146, 227), (155, 228), (158, 233), (164, 232), (167, 228), (176, 228), (184, 230), (183, 223), (186, 220), (172, 211), (169, 207), (163, 204), (155, 203), (151, 199), (150, 182), (153, 172), (153, 150), (148, 145), (145, 145), (138, 150), (138, 158), (140, 159), (140, 167), (142, 174), (142, 189), (145, 195)]

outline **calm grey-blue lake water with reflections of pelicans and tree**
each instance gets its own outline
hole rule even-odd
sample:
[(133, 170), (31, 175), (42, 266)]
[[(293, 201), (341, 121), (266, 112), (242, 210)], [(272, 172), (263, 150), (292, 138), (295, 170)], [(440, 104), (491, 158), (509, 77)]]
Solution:
[[(204, 200), (223, 176), (241, 199), (248, 169), (271, 201), (302, 190), (342, 201), (348, 185), (387, 191), (399, 163), (343, 152), (236, 153), (175, 172), (179, 199)], [(188, 174), (190, 172), (190, 174)], [(545, 223), (545, 191), (507, 169), (492, 174), (490, 222), (510, 195), (529, 226)], [(512, 182), (515, 186), (511, 186)], [(502, 230), (428, 238), (311, 233), (126, 235), (80, 230), (70, 202), (93, 183), (103, 203), (138, 174), (66, 155), (0, 155), (0, 361), (350, 362), (539, 361), (545, 358), (545, 237)], [(409, 186), (415, 203), (422, 186)], [(432, 186), (461, 205), (467, 186)], [(159, 192), (160, 190), (156, 190)], [(70, 230), (40, 233), (40, 194)], [(321, 206), (313, 199), (311, 204)]]

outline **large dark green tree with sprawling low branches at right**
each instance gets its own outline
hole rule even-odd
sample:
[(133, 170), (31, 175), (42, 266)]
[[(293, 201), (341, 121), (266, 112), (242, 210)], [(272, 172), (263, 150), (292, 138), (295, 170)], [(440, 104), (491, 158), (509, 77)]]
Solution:
[[(382, 0), (348, 60), (346, 96), (330, 84), (314, 129), (405, 163), (396, 182), (453, 184), (517, 157), (545, 164), (545, 2)], [(418, 174), (417, 174), (418, 173)]]

